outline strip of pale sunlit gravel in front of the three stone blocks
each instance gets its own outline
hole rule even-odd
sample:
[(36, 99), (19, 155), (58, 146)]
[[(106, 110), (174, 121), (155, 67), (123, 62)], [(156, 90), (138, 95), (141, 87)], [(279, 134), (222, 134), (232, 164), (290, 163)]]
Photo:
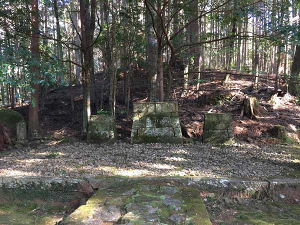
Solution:
[[(299, 156), (283, 145), (60, 144), (0, 152), (0, 176), (97, 175), (265, 177), (290, 176)], [(299, 155), (298, 153), (296, 155)]]

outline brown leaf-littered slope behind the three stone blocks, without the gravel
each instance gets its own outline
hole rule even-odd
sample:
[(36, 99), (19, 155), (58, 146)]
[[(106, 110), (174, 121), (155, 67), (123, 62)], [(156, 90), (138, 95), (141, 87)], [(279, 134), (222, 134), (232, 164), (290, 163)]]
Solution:
[[(98, 73), (97, 73), (98, 74)], [(187, 96), (182, 96), (182, 86), (178, 80), (174, 80), (171, 100), (178, 102), (180, 121), (188, 128), (193, 138), (200, 138), (202, 134), (204, 112), (231, 112), (235, 140), (249, 143), (278, 143), (272, 138), (271, 128), (276, 124), (284, 125), (288, 135), (294, 139), (300, 138), (300, 105), (295, 97), (289, 94), (275, 94), (272, 80), (260, 79), (258, 90), (252, 88), (252, 77), (231, 76), (227, 85), (222, 84), (223, 74), (205, 73), (201, 75), (198, 90), (196, 84), (190, 88)], [(270, 79), (274, 78), (272, 76)], [(101, 75), (96, 76), (97, 91), (104, 87), (103, 105), (108, 105), (108, 89), (102, 83)], [(134, 74), (132, 78), (132, 102), (146, 101), (146, 77), (142, 72)], [(132, 126), (132, 103), (129, 107), (129, 117), (126, 113), (126, 105), (122, 103), (122, 81), (117, 82), (116, 93), (116, 123), (118, 139), (128, 141)], [(80, 136), (82, 126), (82, 87), (74, 86), (75, 108), (71, 110), (69, 89), (57, 88), (41, 91), (39, 120), (45, 133), (59, 132), (64, 136)], [(281, 94), (281, 95), (280, 95)], [(246, 116), (240, 117), (242, 108), (242, 96), (256, 97), (268, 113), (259, 120), (251, 120)], [(107, 109), (107, 108), (106, 108)], [(23, 104), (16, 110), (27, 118), (28, 105)]]

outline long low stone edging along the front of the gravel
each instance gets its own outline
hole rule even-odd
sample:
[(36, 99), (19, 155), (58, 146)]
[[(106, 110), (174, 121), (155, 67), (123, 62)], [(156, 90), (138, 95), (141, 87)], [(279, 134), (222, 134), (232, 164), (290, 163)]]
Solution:
[[(222, 193), (228, 196), (245, 198), (263, 198), (265, 196), (285, 200), (300, 199), (300, 179), (280, 178), (268, 180), (222, 179), (203, 177), (102, 177), (102, 178), (50, 178), (50, 177), (0, 177), (0, 197), (18, 196), (66, 198), (90, 195), (99, 188), (111, 188), (114, 185), (128, 186), (134, 183), (189, 186), (201, 191)], [(70, 196), (66, 195), (67, 193)]]

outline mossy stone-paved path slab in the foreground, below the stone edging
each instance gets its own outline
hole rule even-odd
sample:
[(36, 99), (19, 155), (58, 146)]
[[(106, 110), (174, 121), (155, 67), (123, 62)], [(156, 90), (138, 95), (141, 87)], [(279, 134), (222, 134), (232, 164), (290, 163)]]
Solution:
[(211, 225), (195, 188), (142, 185), (97, 190), (61, 224)]

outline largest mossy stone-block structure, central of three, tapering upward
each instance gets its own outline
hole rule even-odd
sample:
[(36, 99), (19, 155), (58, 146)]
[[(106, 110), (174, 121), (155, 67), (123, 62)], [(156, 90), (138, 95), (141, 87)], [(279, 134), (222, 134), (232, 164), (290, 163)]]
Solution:
[(180, 143), (177, 102), (136, 102), (131, 143)]

